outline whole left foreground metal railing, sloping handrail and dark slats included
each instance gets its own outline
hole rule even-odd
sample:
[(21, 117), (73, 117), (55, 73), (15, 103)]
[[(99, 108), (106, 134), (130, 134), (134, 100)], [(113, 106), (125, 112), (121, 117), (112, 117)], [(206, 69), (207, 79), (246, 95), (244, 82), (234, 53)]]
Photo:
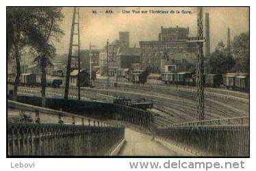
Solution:
[[(10, 156), (110, 155), (125, 136), (125, 128), (120, 124), (64, 111), (15, 101), (8, 101), (8, 109), (14, 109), (8, 111)], [(22, 111), (20, 113), (27, 117), (31, 116), (32, 120), (11, 121), (15, 116), (11, 113), (17, 111)]]

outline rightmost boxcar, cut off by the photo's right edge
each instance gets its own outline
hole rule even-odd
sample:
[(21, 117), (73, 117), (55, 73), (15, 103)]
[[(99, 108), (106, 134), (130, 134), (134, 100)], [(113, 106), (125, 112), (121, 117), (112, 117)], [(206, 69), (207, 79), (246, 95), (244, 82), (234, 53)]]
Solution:
[(240, 74), (235, 77), (235, 89), (248, 91), (250, 88), (250, 80), (248, 74)]

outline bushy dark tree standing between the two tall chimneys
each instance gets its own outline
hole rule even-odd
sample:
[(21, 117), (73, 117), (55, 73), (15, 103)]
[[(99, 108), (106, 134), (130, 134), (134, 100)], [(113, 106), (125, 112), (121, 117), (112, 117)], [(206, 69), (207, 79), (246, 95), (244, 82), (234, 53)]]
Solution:
[(235, 60), (227, 54), (225, 44), (220, 41), (209, 57), (210, 72), (214, 74), (223, 74), (229, 72), (235, 65)]

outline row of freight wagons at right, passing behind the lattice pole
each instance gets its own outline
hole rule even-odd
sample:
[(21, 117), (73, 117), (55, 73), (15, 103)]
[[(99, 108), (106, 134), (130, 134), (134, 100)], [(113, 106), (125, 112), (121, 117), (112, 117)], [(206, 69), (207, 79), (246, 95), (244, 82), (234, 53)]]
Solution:
[[(192, 72), (172, 73), (166, 72), (161, 75), (164, 83), (196, 86), (196, 75)], [(203, 83), (205, 87), (225, 87), (231, 90), (248, 91), (250, 88), (250, 77), (248, 73), (227, 73), (224, 75), (205, 74)]]

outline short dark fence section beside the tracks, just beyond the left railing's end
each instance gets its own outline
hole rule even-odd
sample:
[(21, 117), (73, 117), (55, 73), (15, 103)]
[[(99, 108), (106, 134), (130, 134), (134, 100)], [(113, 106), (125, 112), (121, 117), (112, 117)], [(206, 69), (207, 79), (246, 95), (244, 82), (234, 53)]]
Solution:
[(150, 111), (118, 104), (114, 104), (114, 107), (116, 109), (113, 116), (114, 120), (122, 120), (131, 124), (137, 124), (140, 127), (149, 129), (149, 131), (153, 131), (154, 120), (153, 114)]

